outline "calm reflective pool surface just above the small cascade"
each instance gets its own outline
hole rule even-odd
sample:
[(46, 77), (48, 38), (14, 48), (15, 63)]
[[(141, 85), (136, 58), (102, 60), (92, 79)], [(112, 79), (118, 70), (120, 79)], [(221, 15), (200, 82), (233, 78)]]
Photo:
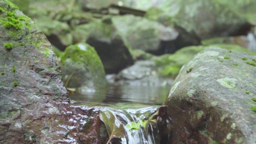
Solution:
[(156, 104), (164, 103), (169, 88), (149, 86), (113, 86), (95, 92), (69, 94), (71, 100), (78, 105), (88, 104)]

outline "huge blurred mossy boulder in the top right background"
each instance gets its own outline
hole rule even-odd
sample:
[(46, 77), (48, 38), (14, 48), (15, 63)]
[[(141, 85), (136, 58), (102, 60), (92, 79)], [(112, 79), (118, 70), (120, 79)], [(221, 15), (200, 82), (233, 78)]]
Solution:
[[(238, 0), (163, 0), (149, 9), (146, 17), (164, 25), (176, 24), (197, 34), (200, 39), (237, 36), (247, 34), (252, 26), (247, 21), (255, 19), (256, 13), (252, 9), (256, 2), (249, 1), (251, 4)], [(245, 7), (248, 7), (247, 12)], [(247, 16), (249, 8), (250, 18)]]

